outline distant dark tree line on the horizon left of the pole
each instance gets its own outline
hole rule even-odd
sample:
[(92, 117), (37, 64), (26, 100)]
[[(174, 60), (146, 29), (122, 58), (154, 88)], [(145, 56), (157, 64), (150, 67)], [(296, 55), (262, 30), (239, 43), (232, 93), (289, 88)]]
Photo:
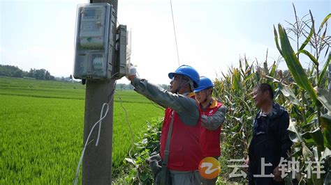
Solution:
[(31, 68), (30, 71), (27, 72), (13, 65), (0, 65), (0, 76), (15, 78), (29, 77), (34, 79), (55, 80), (55, 77), (52, 76), (50, 72), (45, 69), (36, 70)]

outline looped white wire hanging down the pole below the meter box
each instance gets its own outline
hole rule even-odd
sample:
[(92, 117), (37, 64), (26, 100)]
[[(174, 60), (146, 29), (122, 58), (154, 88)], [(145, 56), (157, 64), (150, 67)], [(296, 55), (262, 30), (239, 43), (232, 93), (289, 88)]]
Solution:
[[(103, 113), (103, 108), (105, 108), (105, 106), (107, 106), (107, 110), (105, 111), (105, 114), (102, 115), (102, 113)], [(98, 145), (98, 140), (99, 140), (99, 138), (100, 138), (101, 121), (102, 121), (103, 119), (105, 119), (105, 116), (108, 114), (108, 111), (109, 111), (109, 105), (108, 105), (107, 103), (103, 103), (102, 108), (101, 108), (101, 113), (100, 113), (100, 120), (98, 120), (96, 123), (94, 123), (93, 127), (91, 128), (91, 131), (89, 131), (89, 136), (87, 136), (87, 140), (86, 140), (85, 145), (84, 145), (84, 148), (83, 148), (83, 150), (82, 150), (82, 155), (80, 156), (80, 162), (78, 163), (78, 167), (77, 167), (77, 170), (76, 170), (75, 182), (74, 182), (75, 185), (76, 185), (77, 182), (78, 182), (78, 175), (79, 175), (79, 173), (80, 173), (80, 165), (82, 164), (82, 159), (83, 159), (83, 156), (84, 156), (84, 152), (85, 152), (85, 149), (86, 149), (87, 143), (89, 143), (89, 137), (91, 136), (94, 127), (96, 127), (96, 124), (100, 123), (100, 124), (99, 124), (99, 131), (98, 131), (98, 138), (96, 139), (96, 146), (97, 146), (97, 145)]]

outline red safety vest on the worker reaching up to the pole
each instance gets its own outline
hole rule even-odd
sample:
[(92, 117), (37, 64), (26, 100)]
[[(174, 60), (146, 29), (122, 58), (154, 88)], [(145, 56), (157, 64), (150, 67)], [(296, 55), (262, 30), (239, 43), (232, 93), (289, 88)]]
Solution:
[[(191, 94), (189, 97), (194, 99), (194, 96)], [(172, 135), (170, 139), (168, 168), (178, 171), (198, 170), (199, 163), (203, 159), (200, 145), (201, 116), (195, 126), (189, 126), (180, 120), (177, 112), (170, 108), (165, 109), (160, 140), (161, 158), (163, 159), (164, 156), (172, 112), (174, 122), (172, 124)]]

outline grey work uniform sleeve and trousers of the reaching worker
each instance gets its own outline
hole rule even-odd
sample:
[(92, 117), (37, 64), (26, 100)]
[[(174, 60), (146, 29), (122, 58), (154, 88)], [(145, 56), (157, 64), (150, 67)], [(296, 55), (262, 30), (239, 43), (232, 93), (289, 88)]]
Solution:
[[(176, 111), (184, 124), (194, 126), (198, 124), (200, 111), (196, 100), (185, 95), (178, 95), (164, 90), (146, 79), (135, 78), (131, 81), (135, 91), (141, 95), (159, 104), (163, 108), (171, 108)], [(174, 123), (175, 124), (175, 123)], [(171, 145), (171, 143), (170, 143)], [(170, 151), (171, 152), (171, 151)], [(197, 166), (198, 168), (198, 166)], [(177, 171), (170, 170), (172, 184), (201, 184), (202, 177), (198, 170), (195, 171)]]

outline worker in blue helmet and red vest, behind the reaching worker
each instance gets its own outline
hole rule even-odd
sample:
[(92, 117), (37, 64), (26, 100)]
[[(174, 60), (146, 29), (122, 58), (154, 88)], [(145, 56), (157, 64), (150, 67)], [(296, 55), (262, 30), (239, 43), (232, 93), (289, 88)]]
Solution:
[[(216, 159), (221, 155), (220, 134), (221, 124), (223, 124), (226, 107), (212, 98), (214, 84), (207, 77), (200, 77), (198, 88), (194, 90), (196, 99), (200, 104), (203, 115), (201, 116), (201, 134), (200, 144), (203, 150), (203, 157), (214, 157)], [(217, 177), (214, 179), (203, 178), (203, 184), (215, 184)]]

